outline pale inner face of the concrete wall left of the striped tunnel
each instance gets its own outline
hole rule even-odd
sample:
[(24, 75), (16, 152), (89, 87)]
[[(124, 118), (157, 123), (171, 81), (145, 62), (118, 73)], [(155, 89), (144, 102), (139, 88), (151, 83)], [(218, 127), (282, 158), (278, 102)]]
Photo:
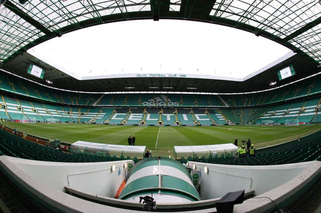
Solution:
[[(53, 188), (63, 191), (64, 186), (70, 186), (80, 191), (114, 197), (122, 180), (126, 176), (124, 163), (126, 161), (68, 163), (48, 162), (10, 158), (19, 169), (32, 178), (41, 180)], [(115, 165), (115, 171), (111, 166)]]

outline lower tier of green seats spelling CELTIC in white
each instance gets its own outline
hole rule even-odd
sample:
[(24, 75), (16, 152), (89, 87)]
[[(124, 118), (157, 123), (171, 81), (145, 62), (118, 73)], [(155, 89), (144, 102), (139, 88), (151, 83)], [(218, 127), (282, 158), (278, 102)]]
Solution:
[[(0, 93), (1, 94), (1, 93)], [(120, 96), (119, 96), (120, 97)], [(320, 122), (321, 98), (289, 101), (272, 106), (257, 107), (75, 107), (65, 104), (38, 102), (35, 99), (19, 99), (2, 94), (0, 117), (12, 120), (59, 120), (60, 122), (95, 122), (109, 124), (147, 125), (212, 125), (230, 123)]]

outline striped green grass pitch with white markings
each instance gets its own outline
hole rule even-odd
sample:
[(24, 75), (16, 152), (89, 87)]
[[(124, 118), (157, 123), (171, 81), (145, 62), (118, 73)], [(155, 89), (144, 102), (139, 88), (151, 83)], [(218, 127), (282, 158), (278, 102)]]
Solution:
[[(174, 145), (205, 145), (234, 142), (250, 138), (255, 147), (290, 141), (321, 130), (320, 124), (300, 126), (122, 126), (100, 124), (45, 124), (2, 122), (19, 131), (63, 142), (84, 140), (110, 144), (127, 144), (129, 135), (136, 136), (136, 145), (146, 145), (155, 155), (173, 154)], [(170, 151), (170, 153), (169, 153)]]

